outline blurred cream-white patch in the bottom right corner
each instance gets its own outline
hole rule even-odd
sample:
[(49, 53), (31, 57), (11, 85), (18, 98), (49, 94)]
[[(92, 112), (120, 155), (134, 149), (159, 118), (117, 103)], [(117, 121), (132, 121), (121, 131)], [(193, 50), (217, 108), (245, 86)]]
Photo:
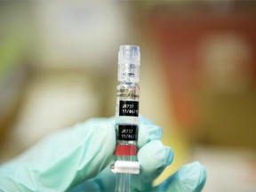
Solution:
[(242, 148), (196, 148), (207, 171), (205, 192), (256, 191), (256, 156)]

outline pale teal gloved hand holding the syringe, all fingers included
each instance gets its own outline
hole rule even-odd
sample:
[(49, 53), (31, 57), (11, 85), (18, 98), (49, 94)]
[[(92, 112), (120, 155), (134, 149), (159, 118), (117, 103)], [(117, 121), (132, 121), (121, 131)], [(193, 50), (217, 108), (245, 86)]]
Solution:
[[(161, 128), (140, 117), (138, 159), (133, 191), (200, 191), (206, 174), (199, 163), (184, 165), (153, 187), (172, 163), (172, 149), (161, 143)], [(115, 119), (93, 118), (55, 132), (27, 152), (0, 166), (0, 191), (114, 191), (109, 164), (116, 145)]]

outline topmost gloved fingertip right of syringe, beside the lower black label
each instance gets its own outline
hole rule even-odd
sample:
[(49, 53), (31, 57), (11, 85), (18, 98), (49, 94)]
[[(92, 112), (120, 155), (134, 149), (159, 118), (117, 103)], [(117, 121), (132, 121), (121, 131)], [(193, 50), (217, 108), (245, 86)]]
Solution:
[(138, 147), (142, 148), (151, 140), (160, 140), (161, 137), (162, 128), (140, 115)]

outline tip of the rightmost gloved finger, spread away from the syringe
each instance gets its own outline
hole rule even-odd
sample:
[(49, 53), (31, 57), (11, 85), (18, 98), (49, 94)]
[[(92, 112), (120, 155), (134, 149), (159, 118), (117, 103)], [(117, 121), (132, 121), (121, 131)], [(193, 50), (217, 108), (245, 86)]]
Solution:
[(199, 162), (180, 168), (179, 180), (184, 191), (201, 191), (206, 181), (206, 169)]

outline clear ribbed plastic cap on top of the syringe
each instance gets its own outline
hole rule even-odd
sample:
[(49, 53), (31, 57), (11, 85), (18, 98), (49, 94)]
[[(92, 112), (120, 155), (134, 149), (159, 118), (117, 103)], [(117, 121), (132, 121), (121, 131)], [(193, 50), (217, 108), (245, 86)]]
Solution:
[(118, 52), (118, 81), (139, 83), (140, 80), (140, 47), (121, 45)]

